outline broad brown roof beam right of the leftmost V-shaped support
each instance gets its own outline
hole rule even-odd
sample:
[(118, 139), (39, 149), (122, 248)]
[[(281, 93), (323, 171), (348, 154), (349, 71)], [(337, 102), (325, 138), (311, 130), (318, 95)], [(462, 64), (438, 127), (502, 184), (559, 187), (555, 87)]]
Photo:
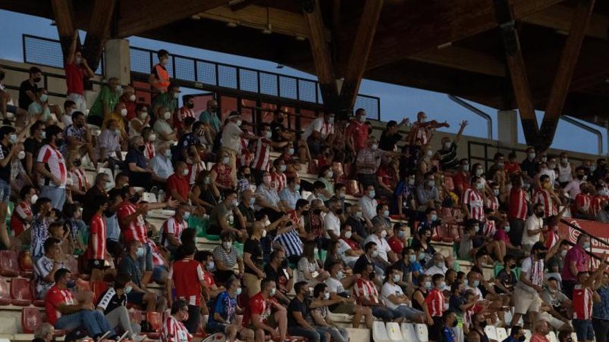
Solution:
[(117, 33), (119, 37), (138, 35), (226, 3), (228, 0), (122, 0)]

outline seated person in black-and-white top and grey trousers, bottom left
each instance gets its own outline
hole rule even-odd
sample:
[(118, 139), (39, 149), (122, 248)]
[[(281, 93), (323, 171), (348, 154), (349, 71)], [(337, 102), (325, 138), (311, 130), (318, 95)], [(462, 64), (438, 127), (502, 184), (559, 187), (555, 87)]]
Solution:
[(117, 327), (120, 327), (121, 330), (128, 332), (127, 337), (134, 341), (142, 341), (143, 338), (138, 336), (139, 323), (131, 323), (127, 310), (127, 294), (131, 292), (132, 288), (131, 277), (127, 274), (118, 274), (114, 285), (100, 294), (97, 310), (104, 313), (113, 329), (116, 330)]

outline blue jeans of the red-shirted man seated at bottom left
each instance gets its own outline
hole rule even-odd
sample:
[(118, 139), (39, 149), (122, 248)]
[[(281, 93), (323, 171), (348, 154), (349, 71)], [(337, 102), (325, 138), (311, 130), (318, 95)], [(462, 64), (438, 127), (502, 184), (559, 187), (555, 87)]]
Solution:
[(107, 337), (116, 335), (106, 316), (99, 310), (82, 310), (73, 314), (66, 314), (55, 322), (55, 329), (71, 331), (78, 330), (80, 327), (84, 327), (87, 334), (92, 337), (100, 336), (106, 332), (110, 332)]

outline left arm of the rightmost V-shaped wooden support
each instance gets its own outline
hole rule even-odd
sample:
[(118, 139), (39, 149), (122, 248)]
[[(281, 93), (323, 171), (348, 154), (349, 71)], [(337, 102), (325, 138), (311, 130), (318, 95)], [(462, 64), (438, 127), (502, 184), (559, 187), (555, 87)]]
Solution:
[(501, 39), (505, 49), (511, 84), (516, 95), (518, 113), (520, 113), (520, 121), (522, 122), (522, 131), (525, 133), (527, 144), (536, 146), (539, 126), (535, 115), (527, 68), (525, 68), (525, 60), (522, 58), (522, 50), (520, 49), (518, 29), (512, 19), (507, 0), (495, 0), (495, 9), (496, 17), (500, 23)]

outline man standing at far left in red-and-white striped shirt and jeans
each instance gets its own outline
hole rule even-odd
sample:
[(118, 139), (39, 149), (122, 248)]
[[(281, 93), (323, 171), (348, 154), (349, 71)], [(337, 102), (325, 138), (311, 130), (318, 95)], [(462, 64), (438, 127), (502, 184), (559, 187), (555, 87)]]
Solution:
[(51, 198), (53, 207), (62, 209), (66, 201), (67, 168), (64, 156), (57, 150), (63, 144), (62, 129), (46, 127), (46, 142), (38, 153), (36, 171), (39, 174), (40, 196)]

